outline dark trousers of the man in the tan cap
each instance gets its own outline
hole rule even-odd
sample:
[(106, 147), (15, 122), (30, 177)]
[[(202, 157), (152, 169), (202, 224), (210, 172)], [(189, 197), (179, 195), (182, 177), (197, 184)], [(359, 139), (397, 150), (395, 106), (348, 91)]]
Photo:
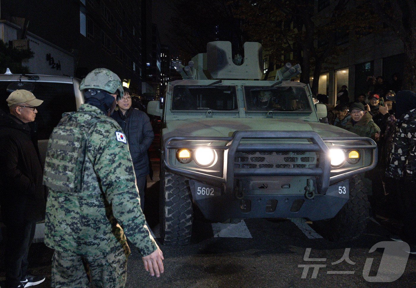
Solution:
[(36, 222), (23, 225), (6, 224), (5, 271), (6, 288), (15, 288), (27, 274), (27, 254), (35, 236)]

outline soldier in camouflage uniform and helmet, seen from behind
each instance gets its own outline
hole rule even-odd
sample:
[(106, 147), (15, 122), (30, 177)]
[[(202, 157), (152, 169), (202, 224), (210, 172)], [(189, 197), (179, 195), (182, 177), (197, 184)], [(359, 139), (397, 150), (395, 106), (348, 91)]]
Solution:
[(140, 209), (126, 137), (109, 117), (123, 95), (121, 81), (99, 68), (79, 89), (86, 104), (63, 115), (45, 160), (44, 183), (50, 189), (45, 244), (55, 249), (51, 285), (84, 288), (90, 281), (97, 287), (124, 287), (126, 236), (139, 248), (146, 271), (159, 277), (162, 251)]

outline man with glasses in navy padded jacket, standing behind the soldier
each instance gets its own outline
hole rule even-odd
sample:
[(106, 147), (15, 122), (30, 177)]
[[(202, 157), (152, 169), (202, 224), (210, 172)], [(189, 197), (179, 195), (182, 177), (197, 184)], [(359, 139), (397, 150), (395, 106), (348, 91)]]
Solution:
[(144, 192), (146, 190), (146, 175), (149, 174), (149, 157), (147, 150), (154, 139), (154, 133), (150, 119), (146, 113), (131, 107), (131, 91), (124, 88), (124, 97), (117, 101), (119, 110), (111, 117), (119, 123), (127, 143), (131, 159), (133, 160), (134, 173), (136, 174), (137, 187), (139, 188), (140, 207), (144, 211)]

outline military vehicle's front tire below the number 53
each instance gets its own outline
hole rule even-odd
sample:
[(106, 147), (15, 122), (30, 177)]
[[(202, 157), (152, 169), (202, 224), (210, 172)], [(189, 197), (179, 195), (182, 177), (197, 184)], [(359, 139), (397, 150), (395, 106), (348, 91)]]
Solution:
[(358, 238), (369, 220), (369, 201), (362, 175), (349, 179), (349, 200), (334, 218), (314, 221), (312, 228), (329, 241), (349, 241)]

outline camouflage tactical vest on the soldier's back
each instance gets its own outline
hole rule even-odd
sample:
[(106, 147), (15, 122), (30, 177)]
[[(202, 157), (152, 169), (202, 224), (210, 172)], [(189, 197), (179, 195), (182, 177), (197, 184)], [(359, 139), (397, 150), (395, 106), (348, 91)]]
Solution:
[(71, 121), (75, 112), (65, 113), (50, 136), (43, 184), (55, 191), (77, 194), (82, 191), (84, 163), (90, 130), (103, 119), (90, 114), (85, 122)]

